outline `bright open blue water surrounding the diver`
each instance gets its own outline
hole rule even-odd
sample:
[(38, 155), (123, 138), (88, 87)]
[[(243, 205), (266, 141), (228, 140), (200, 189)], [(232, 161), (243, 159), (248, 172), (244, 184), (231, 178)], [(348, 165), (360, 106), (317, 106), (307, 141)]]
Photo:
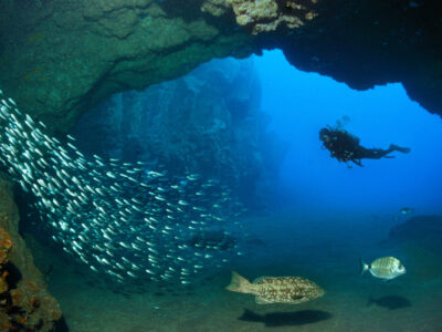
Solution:
[[(291, 142), (281, 166), (285, 207), (307, 210), (419, 214), (442, 211), (442, 120), (412, 102), (399, 83), (355, 91), (346, 84), (290, 65), (281, 51), (254, 59), (262, 84), (262, 110), (272, 129)], [(344, 115), (347, 131), (366, 147), (390, 143), (411, 147), (393, 159), (362, 160), (347, 168), (320, 148), (319, 128)]]

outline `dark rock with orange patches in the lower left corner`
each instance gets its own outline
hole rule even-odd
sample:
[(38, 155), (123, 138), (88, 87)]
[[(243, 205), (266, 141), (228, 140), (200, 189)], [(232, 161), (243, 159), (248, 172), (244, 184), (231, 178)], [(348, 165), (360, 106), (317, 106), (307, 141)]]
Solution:
[(0, 331), (53, 331), (62, 312), (19, 235), (12, 197), (0, 178)]

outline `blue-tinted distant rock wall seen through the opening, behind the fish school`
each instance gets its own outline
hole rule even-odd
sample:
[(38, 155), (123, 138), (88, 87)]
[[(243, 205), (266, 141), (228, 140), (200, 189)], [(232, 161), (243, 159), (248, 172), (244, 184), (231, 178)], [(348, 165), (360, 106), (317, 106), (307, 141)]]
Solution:
[(235, 189), (243, 203), (259, 204), (272, 193), (288, 148), (269, 131), (260, 102), (252, 59), (213, 60), (180, 79), (114, 95), (85, 113), (71, 134), (91, 157), (200, 174)]

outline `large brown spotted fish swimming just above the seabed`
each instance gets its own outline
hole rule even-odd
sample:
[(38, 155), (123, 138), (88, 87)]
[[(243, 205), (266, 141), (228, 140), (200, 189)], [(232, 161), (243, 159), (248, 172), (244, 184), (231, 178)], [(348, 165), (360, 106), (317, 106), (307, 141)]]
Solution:
[(257, 304), (298, 304), (324, 295), (315, 282), (301, 277), (261, 277), (250, 282), (232, 271), (232, 281), (225, 288), (232, 292), (256, 295)]

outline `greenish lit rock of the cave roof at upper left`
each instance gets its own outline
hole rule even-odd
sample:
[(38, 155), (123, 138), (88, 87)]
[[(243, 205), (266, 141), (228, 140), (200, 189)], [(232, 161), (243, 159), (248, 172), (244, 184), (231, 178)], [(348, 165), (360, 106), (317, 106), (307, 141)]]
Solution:
[[(213, 56), (251, 52), (198, 4), (161, 1), (0, 1), (0, 89), (21, 110), (66, 131), (115, 92), (182, 75)], [(249, 44), (249, 46), (246, 46)], [(248, 49), (246, 52), (241, 51)]]

